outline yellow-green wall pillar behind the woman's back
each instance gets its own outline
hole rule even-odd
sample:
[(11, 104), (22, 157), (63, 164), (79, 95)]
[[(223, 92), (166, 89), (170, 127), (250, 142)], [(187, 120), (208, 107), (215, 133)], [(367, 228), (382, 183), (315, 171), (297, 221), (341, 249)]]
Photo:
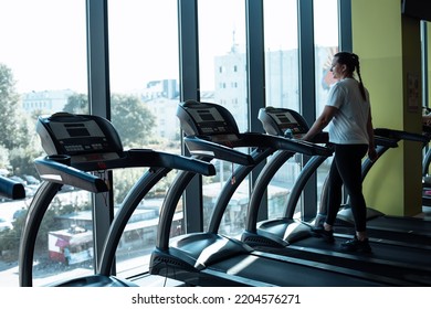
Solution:
[[(370, 92), (375, 127), (420, 132), (420, 103), (412, 109), (407, 96), (408, 74), (420, 78), (419, 21), (401, 17), (399, 0), (351, 0), (351, 13), (353, 49)], [(421, 212), (421, 156), (413, 142), (385, 153), (364, 183), (368, 205), (395, 215)]]

